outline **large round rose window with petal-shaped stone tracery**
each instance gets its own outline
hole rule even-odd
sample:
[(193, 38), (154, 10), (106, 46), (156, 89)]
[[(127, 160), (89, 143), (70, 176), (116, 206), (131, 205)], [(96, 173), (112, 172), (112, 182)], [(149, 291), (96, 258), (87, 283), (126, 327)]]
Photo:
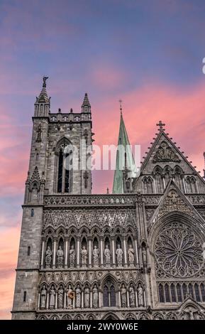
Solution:
[(194, 230), (182, 223), (166, 225), (155, 242), (157, 265), (168, 275), (189, 277), (203, 265), (202, 244)]

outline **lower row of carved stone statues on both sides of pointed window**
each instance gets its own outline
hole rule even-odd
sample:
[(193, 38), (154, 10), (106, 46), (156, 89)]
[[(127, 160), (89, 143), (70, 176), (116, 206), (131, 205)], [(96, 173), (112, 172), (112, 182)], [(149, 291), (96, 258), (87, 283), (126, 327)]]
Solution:
[[(99, 288), (96, 284), (92, 289), (89, 289), (89, 286), (86, 285), (84, 289), (81, 289), (79, 284), (77, 284), (75, 289), (72, 289), (72, 286), (69, 285), (67, 289), (64, 289), (61, 285), (59, 289), (55, 289), (52, 285), (50, 289), (46, 289), (45, 284), (40, 290), (39, 295), (39, 307), (40, 309), (56, 309), (56, 308), (99, 308), (101, 306), (109, 306), (104, 303), (99, 305)], [(106, 287), (102, 291), (104, 301), (104, 294), (107, 293)], [(116, 299), (116, 293), (119, 293), (120, 303), (118, 306), (121, 307), (136, 307), (136, 306), (145, 306), (144, 303), (144, 290), (141, 284), (138, 284), (137, 289), (135, 290), (133, 284), (130, 284), (126, 288), (125, 284), (121, 285), (121, 288), (116, 292), (114, 291), (114, 299)], [(111, 297), (109, 297), (111, 298)], [(120, 304), (120, 305), (119, 305)], [(112, 305), (116, 306), (116, 305)]]

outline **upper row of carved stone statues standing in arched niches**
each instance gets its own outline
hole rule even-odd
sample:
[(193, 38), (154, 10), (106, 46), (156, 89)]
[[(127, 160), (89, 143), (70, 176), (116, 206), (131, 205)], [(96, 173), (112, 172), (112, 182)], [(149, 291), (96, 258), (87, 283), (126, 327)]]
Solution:
[[(134, 266), (135, 264), (135, 252), (133, 249), (132, 244), (128, 244), (128, 265)], [(120, 244), (116, 245), (116, 265), (117, 266), (123, 266), (123, 249), (121, 248)], [(147, 264), (147, 253), (146, 250), (142, 250), (142, 256), (143, 256), (143, 264)], [(94, 248), (92, 250), (92, 264), (94, 267), (99, 267), (99, 248), (94, 245)], [(50, 246), (46, 249), (45, 252), (45, 267), (50, 268), (52, 262), (52, 250), (50, 249)], [(85, 246), (82, 246), (82, 249), (80, 251), (80, 262), (82, 267), (87, 267), (88, 262), (88, 251)], [(112, 254), (111, 249), (109, 248), (109, 244), (105, 245), (104, 249), (104, 266), (111, 266), (112, 262)], [(69, 264), (70, 268), (74, 268), (76, 264), (76, 252), (74, 249), (74, 244), (71, 245), (70, 251), (69, 251)], [(57, 249), (57, 268), (61, 269), (64, 266), (64, 251), (61, 246)]]

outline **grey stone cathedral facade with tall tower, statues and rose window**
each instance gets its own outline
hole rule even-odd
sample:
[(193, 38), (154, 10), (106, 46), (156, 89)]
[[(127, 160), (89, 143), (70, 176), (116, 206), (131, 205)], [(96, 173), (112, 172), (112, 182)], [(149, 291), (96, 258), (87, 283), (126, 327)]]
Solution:
[[(92, 195), (90, 169), (65, 168), (67, 146), (92, 146), (89, 99), (81, 112), (51, 113), (46, 80), (35, 101), (12, 318), (205, 319), (204, 178), (159, 122), (140, 175), (131, 177), (125, 156), (113, 194)], [(122, 115), (119, 136), (126, 144)]]

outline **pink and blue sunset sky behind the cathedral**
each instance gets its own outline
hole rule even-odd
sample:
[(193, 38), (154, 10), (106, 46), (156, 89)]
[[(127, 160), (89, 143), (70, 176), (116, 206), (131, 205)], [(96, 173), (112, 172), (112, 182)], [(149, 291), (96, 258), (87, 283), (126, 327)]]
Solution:
[[(162, 119), (196, 170), (205, 151), (204, 0), (0, 0), (0, 318), (11, 318), (33, 104), (48, 75), (51, 112), (92, 104), (95, 144), (123, 118), (147, 151)], [(93, 174), (93, 193), (112, 187)]]

